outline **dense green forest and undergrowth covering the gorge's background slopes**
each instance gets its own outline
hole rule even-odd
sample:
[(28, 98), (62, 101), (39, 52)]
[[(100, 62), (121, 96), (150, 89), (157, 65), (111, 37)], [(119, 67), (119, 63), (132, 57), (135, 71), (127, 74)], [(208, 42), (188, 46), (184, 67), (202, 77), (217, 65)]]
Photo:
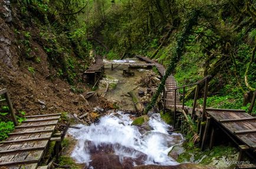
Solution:
[(143, 55), (170, 66), (180, 85), (212, 75), (208, 106), (248, 109), (256, 85), (254, 1), (12, 3), (20, 6), (22, 25), (12, 24), (22, 58), (40, 62), (29, 43), (37, 39), (71, 84), (91, 49), (108, 59)]

